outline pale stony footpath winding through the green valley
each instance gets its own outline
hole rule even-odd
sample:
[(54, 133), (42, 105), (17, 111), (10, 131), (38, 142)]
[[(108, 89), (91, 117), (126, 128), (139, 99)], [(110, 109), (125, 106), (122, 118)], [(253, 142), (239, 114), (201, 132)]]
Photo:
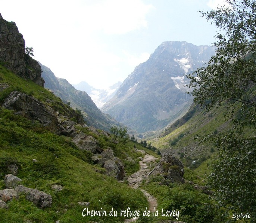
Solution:
[[(135, 172), (134, 174), (132, 174), (130, 177), (128, 177), (128, 182), (132, 188), (138, 188), (144, 193), (144, 195), (147, 197), (147, 200), (149, 201), (149, 210), (151, 212), (153, 212), (154, 208), (156, 209), (156, 207), (157, 207), (156, 198), (153, 197), (151, 194), (147, 193), (147, 191), (145, 191), (139, 187), (140, 187), (141, 182), (144, 179), (148, 178), (148, 175), (151, 171), (149, 167), (151, 165), (154, 165), (154, 162), (158, 158), (147, 154), (144, 150), (142, 150), (140, 152), (145, 154), (143, 160), (140, 161), (140, 170)], [(136, 219), (126, 219), (124, 222), (125, 223), (135, 222), (135, 220)]]

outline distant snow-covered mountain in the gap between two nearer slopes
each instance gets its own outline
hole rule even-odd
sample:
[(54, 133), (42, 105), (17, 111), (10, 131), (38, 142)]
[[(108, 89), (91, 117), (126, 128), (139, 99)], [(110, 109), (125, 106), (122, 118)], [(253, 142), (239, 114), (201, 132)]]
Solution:
[(122, 82), (118, 82), (113, 84), (112, 86), (108, 87), (107, 89), (97, 89), (86, 83), (85, 81), (80, 82), (79, 84), (72, 84), (77, 90), (85, 91), (94, 101), (99, 109), (109, 101), (116, 93), (118, 88)]

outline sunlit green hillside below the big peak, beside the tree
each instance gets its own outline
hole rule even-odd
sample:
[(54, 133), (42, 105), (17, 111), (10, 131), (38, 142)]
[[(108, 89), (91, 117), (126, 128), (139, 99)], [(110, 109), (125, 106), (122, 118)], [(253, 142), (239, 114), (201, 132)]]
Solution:
[(193, 104), (181, 119), (152, 140), (152, 145), (159, 148), (162, 153), (174, 155), (181, 159), (185, 166), (194, 169), (216, 155), (216, 149), (209, 142), (203, 143), (195, 139), (227, 129), (230, 122), (225, 119), (225, 112), (224, 106), (206, 111)]

